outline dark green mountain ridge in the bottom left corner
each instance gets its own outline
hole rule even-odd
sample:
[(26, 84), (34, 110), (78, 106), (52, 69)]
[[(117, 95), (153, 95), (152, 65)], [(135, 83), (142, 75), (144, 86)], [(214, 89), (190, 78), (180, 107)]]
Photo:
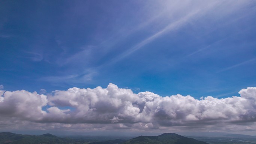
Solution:
[(0, 144), (71, 144), (74, 140), (59, 138), (52, 134), (20, 135), (0, 132)]

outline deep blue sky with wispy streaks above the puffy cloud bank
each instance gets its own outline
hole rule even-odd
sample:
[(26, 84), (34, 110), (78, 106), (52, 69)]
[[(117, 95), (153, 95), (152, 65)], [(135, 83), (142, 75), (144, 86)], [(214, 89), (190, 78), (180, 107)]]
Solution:
[(256, 86), (255, 1), (0, 2), (0, 84), (195, 98)]

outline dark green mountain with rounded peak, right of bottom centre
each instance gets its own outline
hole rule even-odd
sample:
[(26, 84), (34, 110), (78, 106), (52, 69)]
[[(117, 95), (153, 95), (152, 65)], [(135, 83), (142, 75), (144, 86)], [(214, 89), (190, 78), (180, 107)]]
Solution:
[(193, 138), (183, 137), (174, 133), (165, 133), (158, 136), (140, 136), (125, 141), (123, 144), (208, 144)]

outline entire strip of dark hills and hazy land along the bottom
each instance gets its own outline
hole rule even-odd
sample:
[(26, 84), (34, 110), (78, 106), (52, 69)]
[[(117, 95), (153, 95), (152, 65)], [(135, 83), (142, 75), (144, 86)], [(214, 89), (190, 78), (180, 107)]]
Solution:
[(0, 132), (0, 144), (256, 144), (256, 136), (229, 134), (223, 137), (183, 137), (174, 133), (165, 133), (135, 138), (106, 136), (63, 138), (52, 134), (21, 135)]

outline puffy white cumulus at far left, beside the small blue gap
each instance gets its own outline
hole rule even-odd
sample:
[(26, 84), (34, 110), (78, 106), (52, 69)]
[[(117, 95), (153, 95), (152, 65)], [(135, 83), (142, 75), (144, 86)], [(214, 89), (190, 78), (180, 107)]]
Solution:
[(46, 95), (36, 92), (22, 91), (0, 91), (0, 121), (9, 118), (16, 120), (34, 121), (42, 119), (46, 114), (42, 107), (47, 104)]

